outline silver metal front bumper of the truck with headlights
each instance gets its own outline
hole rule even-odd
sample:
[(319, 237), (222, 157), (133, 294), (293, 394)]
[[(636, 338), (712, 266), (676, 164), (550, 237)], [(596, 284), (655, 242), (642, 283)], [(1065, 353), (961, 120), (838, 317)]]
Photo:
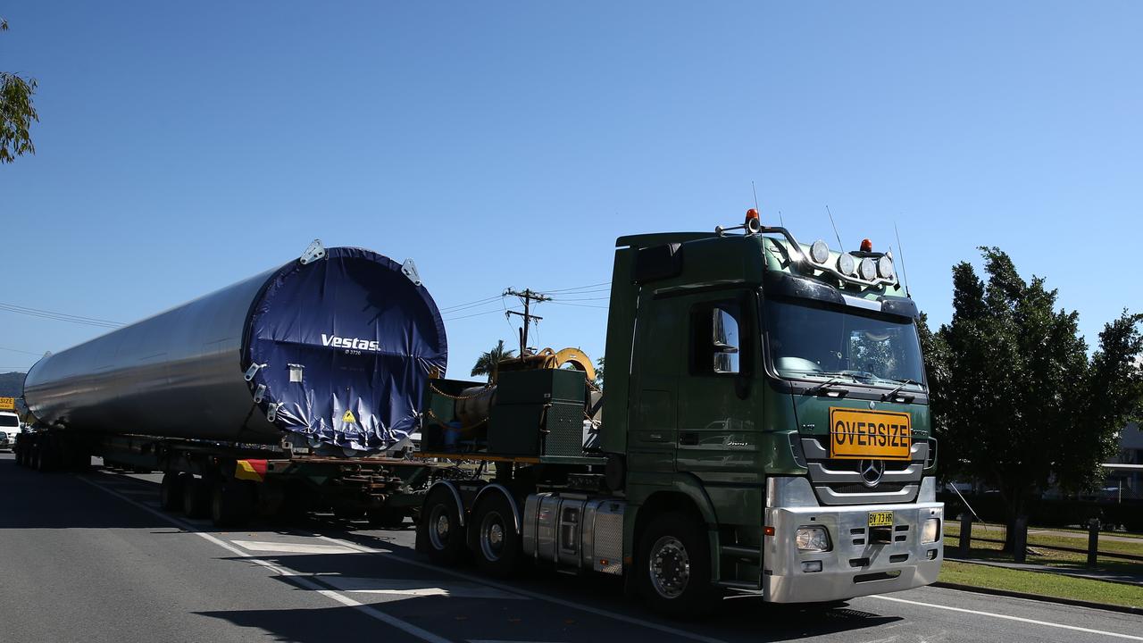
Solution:
[[(935, 495), (925, 493), (926, 486), (935, 487), (932, 478), (922, 484), (918, 500)], [(765, 542), (762, 595), (767, 601), (808, 603), (900, 592), (935, 582), (941, 572), (941, 526), (936, 542), (929, 543), (921, 543), (921, 526), (929, 518), (944, 519), (942, 502), (820, 507), (808, 481), (793, 477), (772, 478), (768, 494), (776, 502), (766, 509), (766, 525), (774, 527), (774, 535)], [(870, 511), (893, 511), (890, 542), (872, 541)], [(794, 534), (802, 526), (825, 527), (831, 549), (799, 551)], [(821, 571), (808, 571), (817, 567), (815, 561), (821, 562)]]

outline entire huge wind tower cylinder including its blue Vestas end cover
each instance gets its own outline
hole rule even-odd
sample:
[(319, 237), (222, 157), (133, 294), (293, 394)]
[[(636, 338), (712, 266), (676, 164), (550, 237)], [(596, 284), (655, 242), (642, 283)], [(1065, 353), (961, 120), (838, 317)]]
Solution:
[(24, 399), (78, 431), (375, 450), (446, 360), (411, 262), (329, 248), (46, 356)]

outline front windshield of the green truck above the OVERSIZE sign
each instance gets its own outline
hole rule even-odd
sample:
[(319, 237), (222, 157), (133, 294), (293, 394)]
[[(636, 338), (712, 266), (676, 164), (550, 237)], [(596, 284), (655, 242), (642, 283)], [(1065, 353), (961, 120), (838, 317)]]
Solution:
[(920, 342), (911, 319), (794, 300), (767, 299), (765, 307), (778, 375), (922, 387)]

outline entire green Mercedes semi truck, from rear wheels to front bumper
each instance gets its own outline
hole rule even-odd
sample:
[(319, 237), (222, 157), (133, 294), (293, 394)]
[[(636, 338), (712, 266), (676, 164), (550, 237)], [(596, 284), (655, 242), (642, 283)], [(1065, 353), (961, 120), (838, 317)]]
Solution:
[(917, 333), (893, 257), (784, 228), (622, 237), (606, 392), (543, 360), (433, 380), (422, 458), (467, 462), (417, 549), (489, 573), (622, 574), (657, 611), (728, 590), (833, 602), (936, 580), (943, 505)]

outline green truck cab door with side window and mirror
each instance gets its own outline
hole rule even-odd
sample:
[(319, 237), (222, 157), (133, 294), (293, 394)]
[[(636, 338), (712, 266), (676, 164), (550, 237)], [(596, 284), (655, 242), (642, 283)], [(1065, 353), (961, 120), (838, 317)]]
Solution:
[(689, 300), (686, 375), (680, 379), (677, 467), (704, 483), (760, 483), (757, 423), (761, 392), (752, 390), (758, 350), (753, 293)]

